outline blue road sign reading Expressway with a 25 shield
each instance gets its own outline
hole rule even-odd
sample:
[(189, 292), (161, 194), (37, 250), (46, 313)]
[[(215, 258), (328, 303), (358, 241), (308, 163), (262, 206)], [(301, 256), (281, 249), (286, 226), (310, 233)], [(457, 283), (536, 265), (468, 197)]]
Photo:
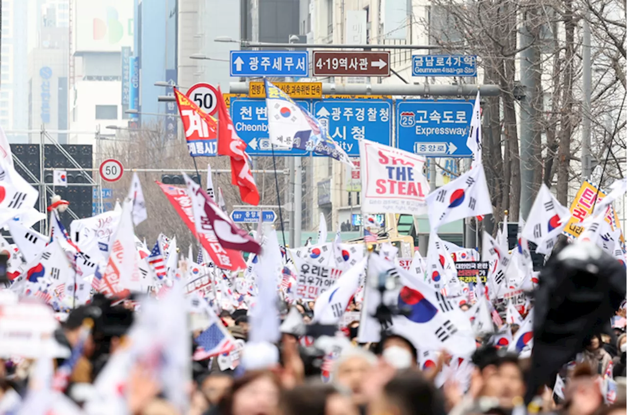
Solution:
[(429, 157), (471, 157), (466, 146), (472, 102), (396, 102), (396, 147)]

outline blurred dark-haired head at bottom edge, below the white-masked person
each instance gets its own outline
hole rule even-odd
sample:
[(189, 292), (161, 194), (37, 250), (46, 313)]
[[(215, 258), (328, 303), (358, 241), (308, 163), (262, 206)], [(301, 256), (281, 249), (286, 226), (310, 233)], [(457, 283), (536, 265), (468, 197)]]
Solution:
[(444, 399), (433, 383), (419, 372), (396, 374), (372, 402), (370, 413), (394, 415), (445, 415)]

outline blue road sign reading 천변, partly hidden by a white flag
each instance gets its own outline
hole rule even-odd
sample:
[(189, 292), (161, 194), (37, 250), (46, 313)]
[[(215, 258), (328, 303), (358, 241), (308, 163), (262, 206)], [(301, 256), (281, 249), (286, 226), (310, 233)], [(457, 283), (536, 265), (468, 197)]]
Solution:
[[(309, 110), (307, 101), (296, 100), (296, 103)], [(248, 147), (248, 155), (272, 155), (270, 137), (268, 135), (268, 114), (266, 112), (266, 100), (251, 98), (231, 99), (231, 118), (240, 139), (244, 140)], [(277, 149), (275, 155), (307, 155), (305, 150)]]

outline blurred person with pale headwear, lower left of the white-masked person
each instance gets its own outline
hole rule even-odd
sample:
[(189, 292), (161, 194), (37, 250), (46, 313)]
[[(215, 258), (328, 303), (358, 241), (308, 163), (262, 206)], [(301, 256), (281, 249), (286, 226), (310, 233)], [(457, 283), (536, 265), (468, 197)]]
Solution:
[(352, 393), (353, 402), (357, 406), (362, 406), (368, 399), (362, 383), (376, 362), (377, 357), (371, 352), (357, 347), (347, 347), (335, 360), (331, 379), (335, 386), (348, 389)]

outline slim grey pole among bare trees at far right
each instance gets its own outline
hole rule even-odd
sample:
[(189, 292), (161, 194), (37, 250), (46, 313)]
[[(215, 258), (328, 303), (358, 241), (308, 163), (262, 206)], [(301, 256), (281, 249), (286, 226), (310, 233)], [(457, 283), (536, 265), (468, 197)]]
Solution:
[(592, 62), (590, 58), (590, 24), (588, 23), (589, 12), (586, 12), (583, 21), (583, 90), (584, 100), (582, 103), (583, 120), (582, 120), (582, 140), (581, 140), (581, 171), (584, 180), (590, 178), (592, 174), (592, 160), (590, 155), (590, 106), (592, 100)]

